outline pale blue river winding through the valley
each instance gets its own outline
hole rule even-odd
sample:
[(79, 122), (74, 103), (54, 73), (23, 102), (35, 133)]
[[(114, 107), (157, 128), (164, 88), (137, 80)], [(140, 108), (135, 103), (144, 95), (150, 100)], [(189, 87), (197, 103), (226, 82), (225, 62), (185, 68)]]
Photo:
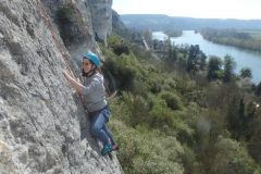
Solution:
[[(153, 38), (159, 40), (165, 40), (167, 36), (162, 32), (153, 32)], [(256, 51), (250, 51), (246, 49), (239, 49), (231, 46), (223, 46), (213, 44), (203, 39), (200, 34), (195, 34), (194, 30), (183, 30), (181, 37), (172, 37), (171, 41), (175, 45), (188, 44), (188, 45), (199, 45), (200, 50), (202, 50), (208, 57), (216, 55), (222, 60), (226, 54), (232, 55), (236, 63), (237, 67), (235, 70), (236, 74), (239, 74), (243, 67), (250, 67), (252, 70), (252, 79), (251, 82), (258, 85), (261, 82), (261, 53)]]

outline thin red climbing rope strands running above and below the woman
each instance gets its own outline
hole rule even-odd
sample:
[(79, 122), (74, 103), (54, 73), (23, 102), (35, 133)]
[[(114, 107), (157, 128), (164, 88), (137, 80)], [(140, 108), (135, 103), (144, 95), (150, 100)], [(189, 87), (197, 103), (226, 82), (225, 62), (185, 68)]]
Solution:
[[(69, 67), (69, 64), (67, 64), (67, 62), (66, 62), (66, 60), (65, 60), (65, 58), (64, 58), (64, 55), (63, 55), (63, 53), (62, 53), (62, 49), (60, 48), (60, 46), (59, 46), (59, 44), (58, 44), (58, 41), (57, 41), (57, 38), (55, 38), (55, 36), (54, 36), (53, 32), (52, 32), (52, 28), (51, 28), (51, 26), (50, 26), (50, 24), (49, 24), (49, 22), (48, 22), (48, 20), (47, 20), (46, 13), (44, 12), (44, 10), (42, 10), (42, 8), (41, 8), (41, 4), (40, 4), (39, 0), (37, 0), (37, 3), (38, 3), (38, 5), (39, 5), (39, 8), (40, 8), (40, 10), (41, 10), (41, 13), (42, 13), (46, 22), (47, 22), (47, 25), (48, 25), (48, 27), (49, 27), (49, 30), (50, 30), (51, 34), (52, 34), (52, 38), (53, 38), (53, 40), (55, 41), (60, 53), (62, 54), (62, 58), (63, 58), (63, 60), (64, 60), (64, 62), (65, 62), (65, 65), (66, 65), (66, 67), (67, 67), (67, 70), (69, 70), (69, 72), (70, 72), (70, 75), (74, 78), (74, 76), (73, 76), (73, 74), (72, 74), (72, 72), (71, 72), (71, 70), (70, 70), (70, 67)], [(75, 10), (75, 13), (77, 14), (78, 22), (79, 22), (79, 24), (80, 24), (80, 26), (82, 26), (82, 29), (83, 29), (83, 32), (84, 32), (84, 34), (85, 34), (85, 37), (86, 37), (87, 41), (88, 41), (89, 48), (90, 48), (91, 52), (94, 52), (94, 50), (92, 50), (92, 48), (91, 48), (91, 46), (90, 46), (89, 39), (88, 39), (88, 37), (87, 37), (87, 34), (86, 34), (86, 32), (85, 32), (85, 29), (84, 29), (84, 26), (83, 26), (83, 24), (82, 24), (82, 21), (80, 21), (80, 18), (79, 18), (78, 12), (77, 12), (74, 3), (73, 3), (73, 0), (71, 0), (71, 3), (73, 4), (73, 8), (74, 8), (74, 10)], [(102, 71), (101, 71), (100, 67), (99, 67), (99, 70), (100, 70), (101, 75), (103, 76)], [(122, 126), (123, 126), (123, 128), (124, 128), (124, 130), (125, 130), (125, 134), (127, 135), (129, 145), (130, 145), (132, 150), (133, 150), (133, 152), (134, 152), (134, 154), (135, 154), (135, 157), (136, 157), (136, 160), (137, 160), (137, 162), (138, 162), (138, 164), (139, 164), (140, 171), (141, 171), (142, 174), (144, 174), (144, 170), (142, 170), (142, 167), (141, 167), (141, 165), (140, 165), (140, 163), (139, 163), (139, 160), (138, 160), (138, 157), (137, 157), (137, 154), (136, 154), (136, 152), (135, 152), (135, 149), (134, 149), (134, 147), (133, 147), (133, 144), (130, 142), (130, 138), (129, 138), (129, 136), (128, 136), (128, 134), (127, 134), (127, 130), (126, 130), (126, 127), (125, 127), (125, 125), (124, 125), (124, 123), (123, 123), (123, 121), (122, 121), (122, 117), (121, 117), (121, 115), (120, 115), (120, 113), (119, 113), (119, 111), (117, 111), (116, 104), (115, 104), (115, 102), (114, 102), (114, 100), (113, 100), (113, 97), (112, 97), (112, 95), (111, 95), (111, 91), (110, 91), (110, 89), (109, 89), (109, 87), (108, 87), (108, 84), (107, 84), (107, 82), (105, 82), (105, 79), (104, 79), (104, 76), (103, 76), (103, 80), (104, 80), (104, 84), (105, 84), (105, 86), (107, 86), (107, 89), (108, 89), (108, 91), (109, 91), (109, 94), (110, 94), (111, 100), (112, 100), (112, 102), (113, 102), (113, 104), (114, 104), (114, 107), (115, 107), (117, 116), (119, 116), (119, 119), (121, 120), (121, 123), (122, 123)], [(84, 104), (84, 99), (83, 99), (82, 94), (78, 92), (78, 95), (79, 95), (79, 97), (80, 97), (82, 103)]]

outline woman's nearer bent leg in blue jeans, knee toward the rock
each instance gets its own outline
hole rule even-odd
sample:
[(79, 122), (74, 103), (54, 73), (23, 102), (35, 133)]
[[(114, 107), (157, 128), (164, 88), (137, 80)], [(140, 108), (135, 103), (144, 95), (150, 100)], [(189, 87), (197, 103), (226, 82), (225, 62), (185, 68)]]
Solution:
[(103, 129), (105, 122), (107, 120), (101, 112), (96, 113), (90, 124), (90, 134), (95, 138), (100, 139), (103, 144), (109, 144), (109, 136)]

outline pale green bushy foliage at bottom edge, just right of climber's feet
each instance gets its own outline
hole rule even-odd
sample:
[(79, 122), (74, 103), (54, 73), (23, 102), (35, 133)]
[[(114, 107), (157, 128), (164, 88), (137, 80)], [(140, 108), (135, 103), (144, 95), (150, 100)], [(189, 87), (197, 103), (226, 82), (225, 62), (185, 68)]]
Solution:
[[(113, 119), (109, 128), (121, 147), (117, 159), (124, 172), (141, 173), (121, 122)], [(127, 128), (127, 133), (145, 173), (183, 173), (184, 169), (178, 161), (184, 150), (175, 137), (162, 136), (157, 129), (148, 130), (142, 126)]]

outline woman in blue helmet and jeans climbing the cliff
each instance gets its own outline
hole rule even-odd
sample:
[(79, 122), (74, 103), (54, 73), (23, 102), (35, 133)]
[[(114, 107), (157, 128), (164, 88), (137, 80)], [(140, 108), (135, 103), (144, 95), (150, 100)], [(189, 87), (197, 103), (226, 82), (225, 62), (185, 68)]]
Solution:
[(84, 96), (84, 103), (90, 119), (90, 134), (103, 142), (101, 153), (107, 154), (108, 152), (119, 150), (119, 147), (111, 132), (105, 126), (105, 123), (109, 121), (110, 108), (105, 100), (103, 77), (97, 70), (99, 64), (99, 58), (95, 53), (87, 53), (83, 58), (83, 85), (78, 78), (72, 78), (65, 70), (62, 70), (62, 73), (71, 85)]

